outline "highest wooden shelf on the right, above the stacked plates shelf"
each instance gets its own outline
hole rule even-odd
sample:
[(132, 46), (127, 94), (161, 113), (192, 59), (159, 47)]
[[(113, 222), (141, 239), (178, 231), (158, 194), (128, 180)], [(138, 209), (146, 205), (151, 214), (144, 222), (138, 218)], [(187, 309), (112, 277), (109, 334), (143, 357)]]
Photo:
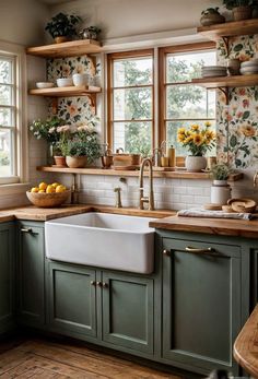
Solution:
[(258, 19), (232, 21), (211, 26), (200, 26), (197, 28), (197, 33), (215, 42), (223, 37), (253, 35), (258, 33)]

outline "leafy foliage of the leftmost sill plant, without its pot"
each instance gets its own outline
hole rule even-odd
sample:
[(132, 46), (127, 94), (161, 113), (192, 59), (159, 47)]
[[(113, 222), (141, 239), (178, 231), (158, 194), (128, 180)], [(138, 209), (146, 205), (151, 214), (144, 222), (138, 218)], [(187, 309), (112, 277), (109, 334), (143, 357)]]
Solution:
[(44, 139), (55, 145), (60, 140), (58, 128), (63, 126), (64, 122), (63, 119), (54, 116), (46, 120), (34, 120), (28, 128), (37, 140)]

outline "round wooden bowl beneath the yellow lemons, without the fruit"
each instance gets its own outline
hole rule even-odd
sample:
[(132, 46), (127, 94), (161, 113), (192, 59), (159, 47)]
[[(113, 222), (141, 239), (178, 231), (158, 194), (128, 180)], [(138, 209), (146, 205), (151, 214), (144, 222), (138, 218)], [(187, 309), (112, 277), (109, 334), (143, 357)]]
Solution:
[(26, 191), (27, 199), (36, 206), (39, 208), (55, 208), (60, 206), (69, 198), (71, 190), (66, 190), (59, 193), (38, 193)]

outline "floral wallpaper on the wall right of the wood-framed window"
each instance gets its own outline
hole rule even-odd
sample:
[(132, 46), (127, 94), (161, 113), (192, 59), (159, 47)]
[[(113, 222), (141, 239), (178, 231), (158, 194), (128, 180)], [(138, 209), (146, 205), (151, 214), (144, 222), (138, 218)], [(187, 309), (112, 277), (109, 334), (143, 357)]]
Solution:
[[(230, 38), (228, 58), (241, 61), (258, 56), (258, 35)], [(227, 61), (223, 40), (218, 43), (218, 64)], [(218, 92), (218, 158), (236, 168), (258, 167), (258, 87)]]

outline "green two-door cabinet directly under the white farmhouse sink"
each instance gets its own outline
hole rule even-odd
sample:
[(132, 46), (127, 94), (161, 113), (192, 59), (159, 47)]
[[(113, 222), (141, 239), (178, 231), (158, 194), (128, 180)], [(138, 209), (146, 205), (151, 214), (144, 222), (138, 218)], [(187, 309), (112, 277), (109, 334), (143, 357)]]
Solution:
[(153, 280), (47, 261), (52, 331), (153, 354)]

